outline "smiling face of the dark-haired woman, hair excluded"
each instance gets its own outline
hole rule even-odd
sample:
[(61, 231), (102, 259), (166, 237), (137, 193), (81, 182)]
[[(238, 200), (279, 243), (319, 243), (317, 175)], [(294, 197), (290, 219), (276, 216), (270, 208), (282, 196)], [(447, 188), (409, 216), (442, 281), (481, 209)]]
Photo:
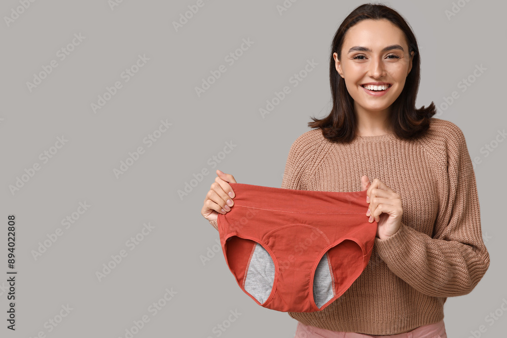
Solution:
[[(345, 79), (356, 114), (387, 115), (412, 69), (414, 52), (409, 54), (403, 31), (389, 20), (362, 20), (345, 34), (341, 52), (341, 60), (333, 54), (336, 70)], [(388, 88), (364, 88), (380, 83)]]

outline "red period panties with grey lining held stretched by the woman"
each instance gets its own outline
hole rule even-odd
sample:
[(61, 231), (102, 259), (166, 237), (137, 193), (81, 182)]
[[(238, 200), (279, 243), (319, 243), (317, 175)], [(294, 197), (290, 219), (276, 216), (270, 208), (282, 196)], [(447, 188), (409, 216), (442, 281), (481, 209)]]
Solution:
[(314, 312), (340, 297), (366, 268), (377, 222), (366, 190), (320, 192), (229, 183), (234, 206), (218, 215), (225, 260), (257, 304)]

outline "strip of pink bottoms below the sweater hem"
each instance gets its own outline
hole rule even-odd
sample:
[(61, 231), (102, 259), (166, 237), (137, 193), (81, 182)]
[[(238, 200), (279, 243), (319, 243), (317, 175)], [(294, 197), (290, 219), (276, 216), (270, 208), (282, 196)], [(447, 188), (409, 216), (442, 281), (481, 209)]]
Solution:
[(353, 332), (337, 332), (324, 330), (318, 327), (305, 325), (298, 322), (296, 335), (294, 338), (360, 338), (360, 337), (378, 337), (378, 338), (447, 338), (445, 332), (444, 320), (438, 323), (419, 326), (412, 331), (391, 334), (391, 335), (371, 335)]

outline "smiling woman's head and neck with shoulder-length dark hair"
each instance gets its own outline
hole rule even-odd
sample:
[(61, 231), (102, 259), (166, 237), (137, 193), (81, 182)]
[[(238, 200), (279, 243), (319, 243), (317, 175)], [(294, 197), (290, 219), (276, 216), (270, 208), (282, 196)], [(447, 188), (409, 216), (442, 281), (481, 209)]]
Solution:
[(420, 81), (417, 46), (414, 33), (396, 11), (370, 4), (356, 8), (331, 45), (333, 109), (308, 125), (340, 142), (386, 132), (402, 139), (421, 136), (436, 107), (431, 102), (427, 108), (415, 108)]

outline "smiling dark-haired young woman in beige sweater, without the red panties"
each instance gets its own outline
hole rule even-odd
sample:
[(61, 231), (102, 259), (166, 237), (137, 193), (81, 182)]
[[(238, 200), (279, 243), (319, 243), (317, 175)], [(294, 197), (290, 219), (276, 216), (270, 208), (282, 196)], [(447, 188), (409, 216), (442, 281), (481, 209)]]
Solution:
[[(322, 311), (292, 313), (296, 337), (446, 337), (443, 306), (489, 267), (476, 179), (462, 131), (415, 108), (420, 57), (414, 33), (391, 8), (365, 4), (332, 43), (329, 116), (312, 118), (288, 154), (282, 188), (367, 190), (378, 222), (370, 262)], [(217, 228), (236, 182), (220, 170), (201, 214)], [(373, 178), (373, 180), (371, 180)]]

